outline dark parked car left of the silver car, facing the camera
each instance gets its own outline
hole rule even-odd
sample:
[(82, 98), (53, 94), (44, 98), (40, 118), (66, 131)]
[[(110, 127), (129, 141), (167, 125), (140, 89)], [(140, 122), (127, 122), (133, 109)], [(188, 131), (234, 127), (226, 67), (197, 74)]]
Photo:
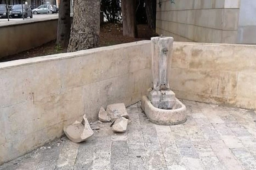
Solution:
[(33, 18), (33, 13), (31, 8), (29, 7), (29, 5), (27, 4), (17, 4), (17, 5), (13, 5), (12, 10), (10, 12), (10, 16), (12, 18), (22, 18), (23, 17), (23, 13), (22, 13), (22, 7), (23, 7), (23, 13), (24, 13), (24, 18)]

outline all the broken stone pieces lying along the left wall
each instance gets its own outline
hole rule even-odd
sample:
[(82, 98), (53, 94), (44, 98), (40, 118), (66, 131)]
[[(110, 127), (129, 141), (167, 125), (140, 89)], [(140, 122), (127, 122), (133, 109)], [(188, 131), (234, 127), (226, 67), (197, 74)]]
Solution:
[[(123, 103), (108, 105), (106, 110), (101, 107), (98, 117), (101, 122), (112, 122), (114, 132), (125, 132), (127, 129), (129, 115)], [(93, 130), (85, 115), (83, 121), (75, 121), (63, 130), (66, 136), (75, 143), (83, 142), (93, 135)]]

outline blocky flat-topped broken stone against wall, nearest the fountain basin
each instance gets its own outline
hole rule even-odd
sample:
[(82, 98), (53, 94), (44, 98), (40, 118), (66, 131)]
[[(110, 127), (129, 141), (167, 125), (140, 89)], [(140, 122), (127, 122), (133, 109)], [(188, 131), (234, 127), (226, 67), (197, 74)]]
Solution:
[(108, 105), (106, 111), (108, 113), (108, 116), (109, 116), (111, 122), (117, 120), (121, 116), (129, 119), (129, 115), (128, 115), (125, 105), (123, 103), (116, 103), (116, 104)]

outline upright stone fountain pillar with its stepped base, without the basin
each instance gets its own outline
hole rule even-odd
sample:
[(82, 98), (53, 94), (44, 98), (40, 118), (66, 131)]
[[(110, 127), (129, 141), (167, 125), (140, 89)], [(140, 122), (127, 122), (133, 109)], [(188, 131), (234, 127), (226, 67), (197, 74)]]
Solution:
[(149, 89), (148, 98), (159, 109), (172, 109), (175, 104), (175, 93), (169, 85), (172, 48), (172, 37), (151, 38), (153, 89)]

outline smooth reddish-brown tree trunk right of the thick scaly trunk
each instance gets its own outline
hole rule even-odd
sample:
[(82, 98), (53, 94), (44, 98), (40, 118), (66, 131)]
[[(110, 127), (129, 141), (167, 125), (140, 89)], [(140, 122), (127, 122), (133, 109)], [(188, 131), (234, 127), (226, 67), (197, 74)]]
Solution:
[(122, 0), (123, 35), (137, 37), (136, 0)]

